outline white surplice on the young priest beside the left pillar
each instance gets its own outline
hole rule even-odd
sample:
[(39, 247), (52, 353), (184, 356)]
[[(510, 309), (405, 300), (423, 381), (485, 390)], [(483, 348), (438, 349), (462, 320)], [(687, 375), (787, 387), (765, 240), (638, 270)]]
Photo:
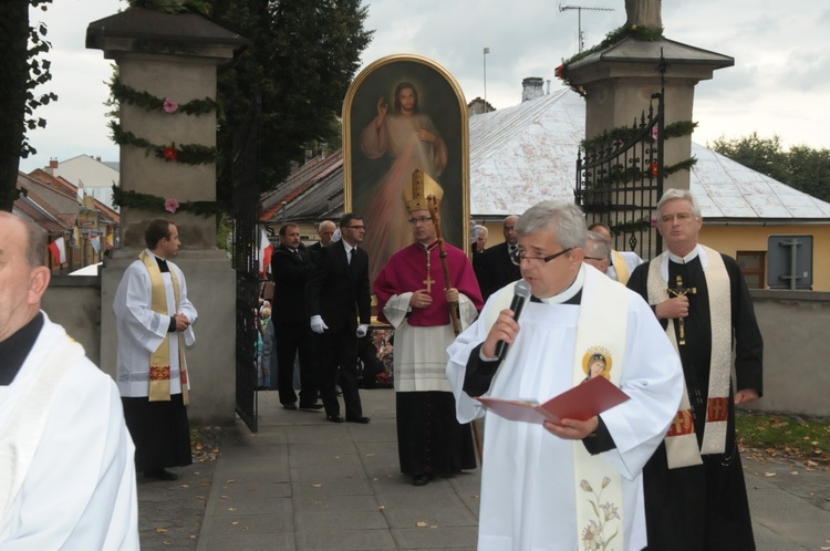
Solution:
[[(152, 254), (149, 251), (147, 253)], [(187, 316), (190, 326), (184, 332), (185, 344), (189, 346), (196, 341), (193, 323), (198, 314), (196, 308), (187, 299), (185, 274), (169, 260), (167, 267), (178, 277), (179, 303), (176, 304), (173, 292), (173, 278), (168, 272), (163, 272), (162, 278), (167, 297), (166, 315), (151, 309), (153, 285), (149, 272), (141, 260), (127, 267), (115, 293), (113, 310), (118, 335), (116, 383), (122, 396), (136, 398), (149, 395), (149, 356), (167, 335), (172, 315), (181, 312)], [(179, 345), (176, 335), (177, 333), (170, 333), (170, 394), (181, 393)]]

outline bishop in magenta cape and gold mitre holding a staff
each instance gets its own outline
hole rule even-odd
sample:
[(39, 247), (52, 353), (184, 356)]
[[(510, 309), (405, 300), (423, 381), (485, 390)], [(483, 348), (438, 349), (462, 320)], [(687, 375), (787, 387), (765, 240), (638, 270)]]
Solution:
[[(455, 339), (449, 309), (456, 309), (461, 328), (481, 309), (473, 266), (463, 250), (446, 243), (450, 281), (442, 267), (429, 194), (440, 200), (440, 188), (424, 176), (409, 190), (409, 212), (415, 242), (386, 262), (375, 280), (377, 318), (395, 328), (395, 404), (401, 471), (415, 486), (433, 477), (448, 477), (476, 468), (468, 424), (456, 420), (455, 404), (444, 373), (446, 350)], [(424, 189), (424, 187), (427, 187)]]

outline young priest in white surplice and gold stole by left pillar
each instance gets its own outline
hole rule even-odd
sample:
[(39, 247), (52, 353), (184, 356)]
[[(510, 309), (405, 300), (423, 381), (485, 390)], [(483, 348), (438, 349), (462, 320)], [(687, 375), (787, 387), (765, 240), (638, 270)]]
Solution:
[(135, 464), (147, 478), (175, 480), (167, 467), (193, 462), (187, 420), (189, 384), (185, 345), (196, 340), (197, 313), (187, 299), (176, 225), (152, 220), (147, 248), (129, 264), (115, 293), (118, 335), (116, 382), (135, 441)]

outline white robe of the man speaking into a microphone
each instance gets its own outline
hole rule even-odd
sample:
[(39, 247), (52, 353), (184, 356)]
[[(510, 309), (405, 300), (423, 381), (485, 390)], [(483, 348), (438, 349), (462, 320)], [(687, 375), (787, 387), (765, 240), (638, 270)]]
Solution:
[[(582, 304), (604, 278), (583, 268)], [(581, 279), (582, 277), (580, 277)], [(615, 284), (616, 285), (616, 284)], [(570, 290), (572, 291), (572, 290)], [(601, 417), (616, 445), (602, 456), (622, 475), (625, 541), (608, 548), (640, 550), (646, 545), (641, 469), (657, 447), (676, 413), (683, 392), (677, 354), (649, 305), (627, 293), (625, 357), (621, 388), (630, 401)], [(572, 292), (570, 293), (573, 294)], [(516, 342), (492, 380), (490, 396), (540, 403), (573, 386), (574, 343), (580, 305), (528, 302)], [(491, 297), (478, 321), (448, 349), (447, 377), (456, 396), (458, 420), (485, 415), (485, 408), (463, 391), (470, 352), (487, 336), (490, 309), (504, 308)], [(585, 328), (582, 328), (585, 331)], [(602, 344), (598, 335), (596, 344)], [(485, 551), (582, 549), (577, 532), (573, 446), (541, 425), (506, 420), (487, 414), (481, 471), (478, 549)], [(581, 496), (580, 496), (581, 497)]]

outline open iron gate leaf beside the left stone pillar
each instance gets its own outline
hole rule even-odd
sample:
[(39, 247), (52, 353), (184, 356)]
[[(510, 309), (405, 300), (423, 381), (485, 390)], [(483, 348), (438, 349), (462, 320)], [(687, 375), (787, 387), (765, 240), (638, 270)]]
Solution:
[(234, 256), (237, 272), (236, 410), (257, 432), (257, 326), (259, 306), (259, 101), (234, 139)]

